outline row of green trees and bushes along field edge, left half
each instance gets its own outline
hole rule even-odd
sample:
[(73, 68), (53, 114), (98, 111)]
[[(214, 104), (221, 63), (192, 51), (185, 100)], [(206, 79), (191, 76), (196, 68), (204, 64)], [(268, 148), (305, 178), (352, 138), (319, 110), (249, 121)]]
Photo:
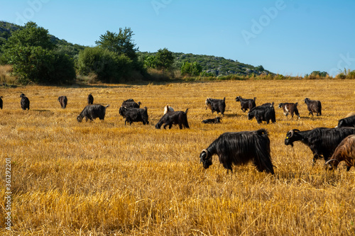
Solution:
[(1, 64), (11, 64), (20, 84), (70, 84), (78, 75), (93, 75), (97, 81), (118, 83), (129, 81), (132, 74), (149, 79), (148, 68), (170, 69), (173, 53), (164, 48), (156, 55), (138, 57), (131, 28), (119, 28), (99, 36), (95, 47), (60, 45), (48, 30), (29, 21), (11, 33), (0, 46)]

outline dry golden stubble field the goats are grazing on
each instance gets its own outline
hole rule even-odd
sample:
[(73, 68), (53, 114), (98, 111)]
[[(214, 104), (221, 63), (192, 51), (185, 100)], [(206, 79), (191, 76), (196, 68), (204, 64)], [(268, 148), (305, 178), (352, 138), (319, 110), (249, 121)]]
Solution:
[[(126, 86), (26, 86), (0, 89), (0, 235), (354, 235), (354, 169), (312, 167), (300, 142), (284, 145), (291, 128), (334, 127), (355, 111), (355, 80), (244, 81)], [(20, 94), (31, 100), (22, 111)], [(109, 103), (104, 121), (77, 123), (88, 94)], [(58, 96), (66, 95), (61, 109)], [(256, 103), (298, 102), (301, 119), (247, 120), (237, 95)], [(207, 97), (226, 97), (219, 125)], [(323, 116), (308, 116), (303, 99), (322, 101)], [(124, 125), (124, 99), (148, 107), (150, 124)], [(169, 104), (189, 108), (190, 129), (155, 130)], [(266, 128), (275, 175), (247, 165), (233, 174), (214, 157), (205, 170), (200, 151), (227, 131)], [(5, 159), (11, 158), (11, 232), (5, 229)]]

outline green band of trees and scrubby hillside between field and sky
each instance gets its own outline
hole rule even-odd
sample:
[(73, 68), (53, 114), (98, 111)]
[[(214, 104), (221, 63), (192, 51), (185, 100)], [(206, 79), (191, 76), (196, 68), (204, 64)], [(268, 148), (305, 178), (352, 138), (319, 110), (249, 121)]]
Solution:
[[(42, 33), (46, 40), (38, 43), (38, 32), (35, 31)], [(284, 76), (274, 74), (262, 65), (255, 67), (224, 57), (170, 52), (166, 48), (158, 52), (139, 52), (133, 43), (133, 35), (130, 28), (119, 28), (118, 33), (107, 31), (99, 35), (99, 40), (95, 42), (97, 46), (85, 47), (60, 40), (33, 22), (17, 26), (0, 21), (0, 64), (13, 66), (11, 69), (0, 69), (11, 72), (0, 74), (0, 82), (87, 84), (171, 79), (206, 81), (329, 78), (327, 72), (319, 71), (311, 72), (305, 77)], [(337, 78), (354, 79), (355, 71), (344, 70)]]

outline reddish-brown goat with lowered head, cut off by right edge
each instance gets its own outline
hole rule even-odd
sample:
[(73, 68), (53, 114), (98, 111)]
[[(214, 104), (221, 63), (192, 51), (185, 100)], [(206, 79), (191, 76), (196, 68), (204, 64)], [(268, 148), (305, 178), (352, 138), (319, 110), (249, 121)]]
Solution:
[(339, 162), (344, 161), (346, 164), (346, 171), (349, 172), (351, 167), (355, 167), (355, 135), (345, 137), (334, 151), (331, 159), (325, 162), (327, 169), (337, 169)]

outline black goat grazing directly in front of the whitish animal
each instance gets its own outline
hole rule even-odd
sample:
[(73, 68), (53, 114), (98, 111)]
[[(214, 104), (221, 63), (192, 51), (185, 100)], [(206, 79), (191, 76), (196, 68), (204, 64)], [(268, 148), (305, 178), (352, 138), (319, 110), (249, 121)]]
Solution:
[(189, 108), (187, 108), (185, 112), (172, 111), (166, 113), (164, 116), (162, 116), (162, 118), (160, 118), (158, 123), (155, 125), (155, 128), (160, 129), (161, 125), (163, 125), (164, 123), (165, 123), (165, 125), (163, 126), (164, 129), (168, 125), (169, 125), (169, 129), (171, 129), (173, 125), (179, 125), (180, 130), (182, 129), (182, 126), (184, 128), (190, 128), (189, 123), (187, 122), (187, 110), (189, 110)]

